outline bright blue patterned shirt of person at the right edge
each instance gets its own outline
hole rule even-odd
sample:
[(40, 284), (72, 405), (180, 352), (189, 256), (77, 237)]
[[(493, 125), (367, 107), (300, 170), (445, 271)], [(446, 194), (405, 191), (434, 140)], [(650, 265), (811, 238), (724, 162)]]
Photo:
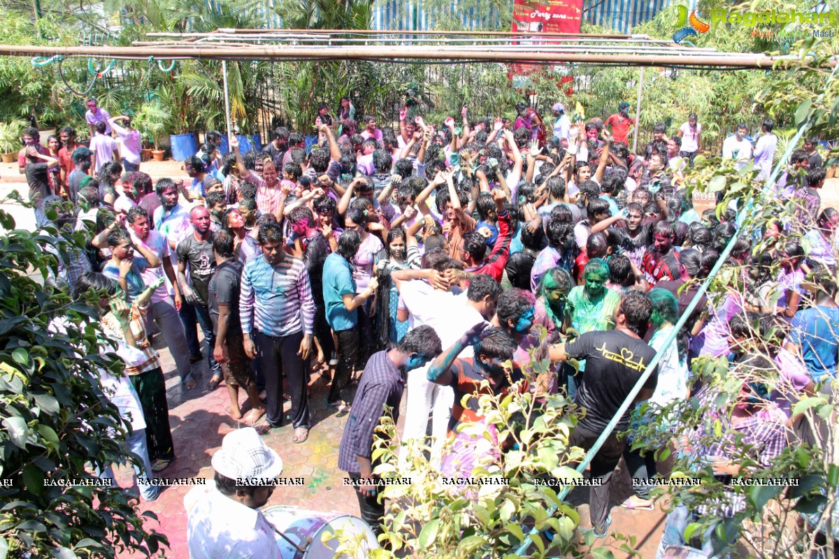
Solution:
[(795, 313), (789, 330), (789, 341), (800, 347), (804, 364), (814, 382), (825, 375), (836, 376), (836, 340), (833, 324), (839, 323), (839, 308), (805, 308)]

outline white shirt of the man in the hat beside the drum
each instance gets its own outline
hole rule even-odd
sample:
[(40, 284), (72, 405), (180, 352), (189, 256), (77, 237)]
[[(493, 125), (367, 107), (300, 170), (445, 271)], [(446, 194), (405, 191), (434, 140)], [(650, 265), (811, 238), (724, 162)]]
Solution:
[[(202, 494), (195, 499), (193, 492)], [(190, 559), (281, 559), (274, 527), (260, 510), (221, 494), (215, 484), (209, 490), (192, 489), (184, 498), (185, 507), (190, 500), (195, 500), (187, 510)]]

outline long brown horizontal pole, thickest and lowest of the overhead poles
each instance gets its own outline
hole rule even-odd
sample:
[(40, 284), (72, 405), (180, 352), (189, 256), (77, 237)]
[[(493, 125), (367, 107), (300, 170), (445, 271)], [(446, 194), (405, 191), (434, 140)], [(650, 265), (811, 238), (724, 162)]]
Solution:
[(559, 52), (498, 52), (491, 48), (475, 52), (461, 49), (422, 49), (404, 46), (370, 47), (293, 47), (253, 45), (239, 48), (175, 49), (152, 46), (81, 46), (47, 47), (17, 44), (0, 44), (0, 56), (55, 56), (98, 57), (112, 59), (145, 60), (149, 56), (159, 59), (203, 60), (474, 60), (487, 62), (520, 62), (534, 64), (591, 64), (633, 66), (690, 66), (753, 68), (769, 70), (777, 60), (763, 54), (719, 53), (715, 55), (658, 55), (658, 54), (579, 54)]

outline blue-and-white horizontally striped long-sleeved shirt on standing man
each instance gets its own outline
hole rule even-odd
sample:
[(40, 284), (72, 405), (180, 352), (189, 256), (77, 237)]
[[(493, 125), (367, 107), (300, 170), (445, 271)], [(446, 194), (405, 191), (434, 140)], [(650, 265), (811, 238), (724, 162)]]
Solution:
[(244, 334), (312, 334), (315, 300), (303, 261), (284, 255), (271, 266), (261, 254), (248, 260), (242, 270), (239, 314)]

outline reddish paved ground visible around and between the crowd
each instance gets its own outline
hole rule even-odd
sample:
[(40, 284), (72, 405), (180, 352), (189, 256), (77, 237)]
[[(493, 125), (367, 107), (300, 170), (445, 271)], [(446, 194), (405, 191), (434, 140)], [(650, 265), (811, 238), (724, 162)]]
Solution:
[[(180, 163), (143, 163), (143, 170), (155, 179), (164, 176), (185, 176), (180, 171)], [(25, 193), (23, 177), (18, 175), (16, 163), (0, 164), (0, 198), (18, 189)], [(823, 198), (831, 204), (839, 202), (839, 180), (823, 191)], [(32, 229), (34, 216), (31, 211), (19, 205), (4, 204), (3, 208), (11, 211), (17, 219), (18, 228)], [(177, 460), (160, 475), (169, 478), (212, 477), (210, 457), (221, 447), (221, 438), (237, 422), (227, 415), (227, 390), (222, 385), (216, 391), (203, 391), (208, 378), (205, 362), (195, 365), (199, 387), (192, 391), (182, 391), (175, 372), (175, 364), (169, 351), (161, 349), (163, 369), (166, 376), (167, 396), (169, 399), (170, 425), (175, 439)], [(274, 492), (268, 505), (293, 505), (306, 510), (341, 511), (358, 515), (358, 505), (352, 488), (341, 483), (343, 474), (336, 468), (338, 444), (346, 417), (335, 417), (335, 412), (325, 406), (327, 383), (320, 375), (312, 375), (310, 385), (310, 407), (313, 413), (312, 429), (309, 440), (302, 444), (291, 443), (291, 427), (274, 429), (264, 437), (265, 443), (274, 448), (283, 459), (284, 477), (302, 477), (305, 484), (289, 486)], [(242, 395), (242, 401), (244, 395)], [(285, 411), (290, 405), (286, 403)], [(404, 401), (403, 401), (404, 411)], [(623, 465), (623, 464), (622, 464)], [(123, 486), (131, 484), (131, 476), (123, 469), (118, 474), (118, 481)], [(629, 494), (628, 475), (621, 472), (616, 482), (617, 489), (612, 496), (612, 531), (629, 536), (636, 536), (635, 548), (642, 557), (652, 557), (664, 527), (664, 514), (660, 506), (654, 511), (625, 510), (618, 506)], [(169, 537), (170, 549), (165, 556), (172, 559), (185, 559), (189, 556), (186, 541), (186, 512), (183, 505), (188, 487), (175, 486), (164, 490), (160, 498), (151, 504), (140, 505), (139, 510), (151, 510), (158, 515), (159, 521), (148, 521), (149, 529), (164, 532)], [(571, 501), (580, 505), (584, 525), (587, 524), (588, 506), (586, 493), (576, 491), (571, 494)], [(616, 556), (626, 556), (618, 551), (620, 542), (610, 537), (607, 545), (612, 546)]]

